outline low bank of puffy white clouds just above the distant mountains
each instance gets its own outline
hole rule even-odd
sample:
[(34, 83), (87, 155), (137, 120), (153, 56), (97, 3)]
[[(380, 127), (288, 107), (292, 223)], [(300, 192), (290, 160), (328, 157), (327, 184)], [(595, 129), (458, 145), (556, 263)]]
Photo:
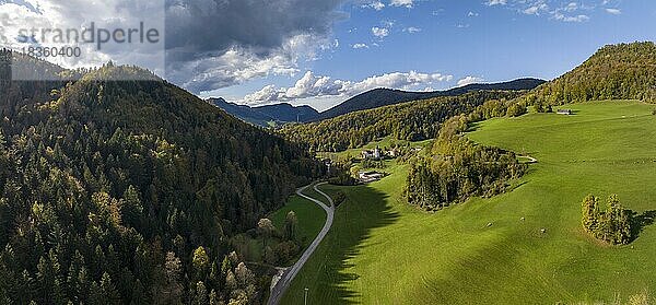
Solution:
[(452, 75), (410, 71), (374, 75), (360, 82), (352, 82), (332, 80), (329, 77), (319, 77), (312, 71), (307, 71), (292, 87), (277, 89), (274, 85), (268, 85), (260, 91), (244, 96), (239, 103), (268, 104), (326, 96), (350, 97), (377, 87), (410, 90), (413, 87), (430, 87), (440, 82), (452, 80)]

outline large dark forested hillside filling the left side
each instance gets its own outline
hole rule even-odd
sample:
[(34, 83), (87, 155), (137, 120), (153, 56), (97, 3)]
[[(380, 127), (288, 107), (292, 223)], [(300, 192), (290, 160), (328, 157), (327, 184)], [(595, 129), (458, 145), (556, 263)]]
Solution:
[[(321, 164), (139, 68), (12, 82), (10, 57), (0, 60), (1, 304), (262, 300), (268, 284), (229, 255), (227, 238)], [(122, 73), (151, 81), (98, 81)]]

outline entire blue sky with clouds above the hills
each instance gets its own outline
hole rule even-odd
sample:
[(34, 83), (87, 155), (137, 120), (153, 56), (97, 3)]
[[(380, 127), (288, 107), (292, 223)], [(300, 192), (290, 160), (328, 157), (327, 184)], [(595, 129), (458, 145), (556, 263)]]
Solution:
[[(153, 2), (106, 0), (93, 14), (114, 15), (115, 23), (152, 20), (144, 11), (153, 10)], [(80, 25), (89, 21), (79, 12), (85, 3), (91, 2), (0, 0), (0, 17)], [(201, 97), (251, 105), (289, 102), (326, 109), (375, 87), (423, 91), (552, 79), (602, 45), (656, 40), (653, 0), (166, 0), (160, 5), (166, 15), (166, 61), (159, 73)], [(96, 60), (120, 54), (119, 62), (150, 64), (147, 51), (107, 52)]]

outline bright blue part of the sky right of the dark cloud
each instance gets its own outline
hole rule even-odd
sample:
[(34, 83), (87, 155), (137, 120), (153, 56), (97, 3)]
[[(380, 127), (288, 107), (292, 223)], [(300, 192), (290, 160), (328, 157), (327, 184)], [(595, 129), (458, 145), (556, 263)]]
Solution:
[[(372, 8), (374, 3), (378, 10)], [(256, 105), (309, 104), (325, 109), (358, 91), (339, 95), (315, 93), (305, 98), (269, 94), (269, 98), (260, 101), (244, 101), (244, 96), (265, 86), (276, 86), (277, 91), (293, 87), (307, 71), (314, 78), (353, 83), (393, 72), (450, 75), (430, 83), (380, 82), (407, 90), (448, 89), (459, 81), (467, 83), (465, 79), (549, 80), (576, 67), (606, 44), (656, 38), (656, 2), (647, 0), (406, 0), (405, 5), (380, 0), (347, 2), (337, 11), (341, 16), (335, 21), (327, 40), (338, 44), (319, 48), (314, 58), (302, 60), (298, 72), (257, 78), (201, 95)]]

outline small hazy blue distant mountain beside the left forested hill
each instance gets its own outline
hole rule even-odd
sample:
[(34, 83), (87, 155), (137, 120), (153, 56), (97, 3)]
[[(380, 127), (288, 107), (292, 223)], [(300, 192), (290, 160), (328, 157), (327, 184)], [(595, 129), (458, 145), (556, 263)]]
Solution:
[(230, 103), (223, 98), (210, 98), (208, 102), (244, 121), (262, 127), (293, 121), (311, 121), (319, 115), (309, 106), (292, 106), (286, 103), (250, 107)]

